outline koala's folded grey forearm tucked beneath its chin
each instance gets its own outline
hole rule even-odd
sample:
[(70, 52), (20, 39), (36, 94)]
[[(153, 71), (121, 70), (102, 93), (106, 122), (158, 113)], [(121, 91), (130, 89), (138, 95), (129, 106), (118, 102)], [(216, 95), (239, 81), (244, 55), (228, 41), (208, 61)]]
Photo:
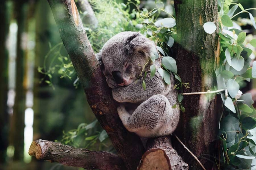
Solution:
[(140, 103), (153, 95), (164, 94), (167, 86), (170, 86), (163, 82), (163, 79), (158, 72), (155, 73), (152, 79), (150, 79), (150, 73), (148, 73), (144, 81), (146, 82), (146, 90), (143, 89), (143, 80), (140, 77), (129, 86), (113, 89), (113, 98), (120, 103)]

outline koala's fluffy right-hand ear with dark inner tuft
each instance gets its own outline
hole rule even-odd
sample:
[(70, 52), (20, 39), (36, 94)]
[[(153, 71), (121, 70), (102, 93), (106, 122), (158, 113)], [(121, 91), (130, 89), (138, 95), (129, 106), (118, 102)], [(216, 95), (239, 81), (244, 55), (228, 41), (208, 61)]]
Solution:
[(139, 53), (150, 57), (154, 54), (155, 44), (142, 34), (135, 32), (127, 38), (126, 48), (130, 55)]

